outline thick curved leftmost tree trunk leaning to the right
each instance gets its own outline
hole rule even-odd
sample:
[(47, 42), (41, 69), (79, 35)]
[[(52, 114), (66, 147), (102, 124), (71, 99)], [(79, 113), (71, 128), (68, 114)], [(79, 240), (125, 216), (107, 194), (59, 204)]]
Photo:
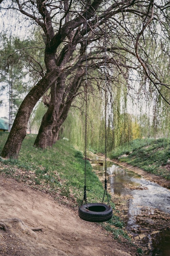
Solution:
[(35, 87), (27, 94), (18, 110), (15, 121), (9, 133), (8, 139), (2, 150), (1, 156), (4, 158), (18, 158), (22, 141), (26, 136), (27, 124), (31, 112), (50, 86), (57, 80), (58, 70), (53, 70), (46, 74)]

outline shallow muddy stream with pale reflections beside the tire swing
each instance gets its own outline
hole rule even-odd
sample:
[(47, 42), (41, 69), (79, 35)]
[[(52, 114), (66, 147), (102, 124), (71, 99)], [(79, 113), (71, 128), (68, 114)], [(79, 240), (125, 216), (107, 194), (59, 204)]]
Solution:
[[(91, 164), (104, 179), (104, 162), (95, 157)], [(128, 198), (123, 213), (129, 233), (147, 255), (170, 256), (170, 190), (112, 162), (107, 163), (107, 176), (113, 200)]]

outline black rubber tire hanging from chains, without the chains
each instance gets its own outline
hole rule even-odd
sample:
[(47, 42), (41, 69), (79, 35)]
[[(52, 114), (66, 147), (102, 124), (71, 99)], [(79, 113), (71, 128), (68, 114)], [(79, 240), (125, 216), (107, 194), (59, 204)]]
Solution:
[(90, 203), (81, 205), (79, 207), (78, 214), (82, 220), (90, 222), (104, 222), (112, 218), (113, 209), (107, 204)]

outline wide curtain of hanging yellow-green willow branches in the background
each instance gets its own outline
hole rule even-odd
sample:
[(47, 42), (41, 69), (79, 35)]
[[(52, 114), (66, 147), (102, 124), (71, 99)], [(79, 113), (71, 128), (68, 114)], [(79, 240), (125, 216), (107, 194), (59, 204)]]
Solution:
[[(159, 92), (151, 90), (148, 79), (138, 74), (139, 90), (136, 94), (128, 90), (124, 77), (120, 76), (119, 81), (121, 82), (112, 84), (108, 92), (106, 120), (108, 152), (133, 139), (168, 136), (169, 106)], [(161, 88), (161, 92), (165, 92), (164, 87)], [(80, 150), (84, 149), (85, 138), (84, 104), (84, 99), (80, 98), (77, 107), (71, 108), (62, 130), (62, 137), (68, 138)], [(94, 90), (93, 94), (88, 95), (88, 149), (104, 153), (104, 141), (104, 95), (102, 91)]]

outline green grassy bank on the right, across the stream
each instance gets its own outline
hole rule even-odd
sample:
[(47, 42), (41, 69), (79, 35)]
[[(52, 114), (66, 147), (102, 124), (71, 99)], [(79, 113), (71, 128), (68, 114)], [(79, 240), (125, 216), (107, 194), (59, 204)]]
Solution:
[(170, 139), (136, 139), (116, 148), (109, 157), (170, 180)]

